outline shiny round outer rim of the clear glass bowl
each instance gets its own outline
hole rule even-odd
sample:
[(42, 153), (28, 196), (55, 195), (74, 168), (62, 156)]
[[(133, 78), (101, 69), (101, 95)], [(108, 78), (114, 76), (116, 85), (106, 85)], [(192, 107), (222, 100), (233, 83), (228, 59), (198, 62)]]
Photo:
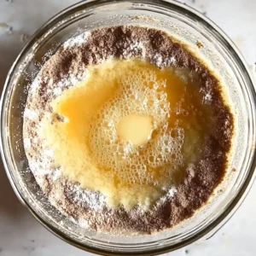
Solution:
[[(251, 82), (249, 85), (249, 90), (251, 94), (253, 95), (253, 113), (255, 113), (255, 102), (256, 102), (256, 93), (255, 88), (253, 86), (254, 81), (253, 77), (247, 67), (246, 61), (242, 57), (240, 51), (236, 48), (236, 45), (231, 41), (231, 39), (209, 18), (207, 18), (205, 15), (202, 15), (199, 11), (196, 9), (189, 7), (188, 5), (184, 3), (177, 2), (175, 0), (127, 0), (127, 1), (119, 1), (119, 2), (129, 2), (129, 3), (150, 3), (150, 4), (159, 4), (160, 6), (164, 6), (166, 9), (168, 8), (176, 8), (183, 10), (184, 13), (188, 13), (190, 16), (195, 17), (201, 24), (204, 26), (207, 26), (208, 28), (211, 28), (212, 32), (218, 35), (219, 38), (224, 40), (225, 44), (230, 46), (230, 49), (233, 50), (233, 54), (236, 55), (236, 59), (239, 61), (240, 67), (246, 72), (247, 79)], [(1, 144), (0, 144), (0, 150), (1, 150), (1, 156), (3, 160), (3, 166), (5, 169), (5, 172), (7, 173), (7, 176), (9, 178), (9, 182), (12, 186), (12, 188), (15, 191), (15, 195), (19, 198), (20, 202), (27, 207), (29, 212), (32, 213), (32, 216), (38, 220), (40, 224), (42, 224), (47, 230), (49, 230), (51, 233), (53, 233), (55, 236), (61, 238), (61, 240), (66, 241), (67, 243), (79, 247), (80, 249), (84, 249), (85, 251), (88, 251), (90, 253), (98, 253), (102, 255), (120, 255), (119, 252), (113, 252), (108, 249), (99, 249), (96, 247), (92, 247), (89, 245), (84, 245), (84, 243), (74, 241), (73, 238), (67, 236), (61, 230), (58, 230), (53, 226), (52, 224), (49, 224), (44, 221), (44, 218), (41, 218), (37, 212), (33, 210), (33, 208), (30, 206), (30, 204), (26, 201), (25, 197), (20, 194), (19, 189), (17, 188), (15, 181), (11, 175), (11, 171), (9, 168), (9, 162), (6, 158), (6, 147), (4, 147), (3, 142), (3, 130), (4, 127), (4, 110), (6, 105), (6, 98), (7, 94), (9, 92), (9, 87), (11, 86), (11, 79), (15, 73), (15, 69), (18, 66), (20, 60), (26, 53), (29, 51), (29, 49), (32, 48), (32, 45), (35, 44), (35, 42), (38, 40), (38, 38), (41, 38), (45, 32), (48, 32), (51, 27), (53, 27), (59, 20), (64, 20), (67, 15), (72, 15), (73, 13), (82, 11), (84, 9), (93, 7), (93, 6), (99, 6), (101, 4), (112, 4), (112, 3), (118, 3), (115, 0), (89, 0), (89, 1), (81, 1), (79, 3), (75, 3), (66, 9), (61, 10), (61, 12), (54, 15), (51, 19), (46, 21), (43, 26), (41, 26), (37, 32), (35, 32), (32, 36), (32, 38), (28, 41), (28, 43), (25, 45), (25, 47), (20, 51), (20, 54), (17, 56), (15, 62), (9, 69), (9, 73), (7, 75), (5, 84), (3, 86), (3, 92), (1, 96), (1, 102), (0, 102), (0, 121), (1, 121), (1, 129), (0, 129), (0, 137), (1, 137)], [(255, 125), (255, 124), (254, 124)], [(249, 172), (247, 174), (247, 178), (244, 181), (244, 183), (241, 186), (241, 189), (236, 195), (236, 198), (231, 201), (230, 205), (227, 207), (225, 212), (223, 212), (218, 218), (216, 218), (211, 224), (208, 224), (207, 227), (205, 227), (203, 230), (198, 232), (195, 236), (190, 237), (189, 239), (185, 241), (178, 241), (175, 245), (169, 245), (166, 247), (161, 247), (157, 249), (150, 249), (145, 252), (140, 252), (140, 255), (156, 255), (160, 253), (168, 253), (173, 250), (177, 250), (178, 248), (184, 247), (189, 245), (190, 243), (200, 239), (203, 236), (206, 236), (209, 233), (212, 233), (212, 236), (233, 216), (233, 214), (236, 212), (236, 210), (241, 206), (241, 203), (244, 201), (244, 199), (247, 196), (247, 193), (251, 189), (253, 185), (254, 178), (256, 176), (256, 173), (254, 172), (256, 167), (256, 151), (255, 147), (253, 145), (253, 149), (251, 150), (253, 152), (252, 155), (252, 161), (250, 163)], [(210, 236), (211, 237), (211, 236)], [(208, 237), (209, 238), (209, 237)], [(134, 255), (132, 252), (122, 252), (122, 255)]]

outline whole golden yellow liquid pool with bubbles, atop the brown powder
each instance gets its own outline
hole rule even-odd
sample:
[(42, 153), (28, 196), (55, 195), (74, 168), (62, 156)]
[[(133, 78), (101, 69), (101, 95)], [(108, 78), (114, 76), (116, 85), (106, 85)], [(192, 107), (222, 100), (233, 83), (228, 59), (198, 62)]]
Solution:
[(150, 207), (199, 159), (211, 127), (211, 109), (188, 78), (137, 59), (88, 67), (87, 79), (57, 97), (44, 120), (55, 164), (111, 206)]

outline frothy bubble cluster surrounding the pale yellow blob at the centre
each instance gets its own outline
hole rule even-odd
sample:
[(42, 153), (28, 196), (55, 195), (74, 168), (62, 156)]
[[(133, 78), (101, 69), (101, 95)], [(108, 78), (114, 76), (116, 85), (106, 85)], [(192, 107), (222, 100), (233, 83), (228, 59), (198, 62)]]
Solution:
[[(138, 67), (121, 76), (118, 84), (119, 89), (90, 123), (92, 157), (125, 184), (157, 184), (160, 177), (172, 179), (172, 172), (183, 165), (184, 131), (168, 125), (171, 107), (164, 90), (166, 81), (154, 70)], [(137, 146), (118, 136), (119, 121), (130, 114), (152, 118), (148, 143)]]

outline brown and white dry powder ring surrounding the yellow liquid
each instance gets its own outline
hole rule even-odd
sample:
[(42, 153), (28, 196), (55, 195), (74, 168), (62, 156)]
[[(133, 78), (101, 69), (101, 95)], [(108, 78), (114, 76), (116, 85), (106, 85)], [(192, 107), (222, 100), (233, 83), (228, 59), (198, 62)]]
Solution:
[[(85, 223), (86, 227), (112, 233), (151, 233), (172, 228), (205, 204), (224, 177), (234, 125), (230, 108), (221, 96), (218, 79), (183, 45), (174, 43), (165, 32), (152, 28), (116, 26), (79, 37), (84, 37), (82, 43), (71, 39), (70, 44), (61, 46), (44, 64), (29, 91), (23, 135), (31, 170), (49, 201), (80, 224)], [(45, 151), (44, 142), (38, 136), (41, 119), (51, 112), (49, 103), (61, 91), (73, 86), (73, 79), (83, 79), (86, 66), (110, 57), (141, 57), (158, 67), (172, 66), (196, 73), (204, 103), (211, 106), (215, 117), (215, 126), (205, 138), (207, 146), (201, 149), (201, 160), (189, 165), (174, 195), (161, 198), (147, 211), (140, 207), (130, 211), (124, 207), (112, 209), (102, 203), (99, 193), (90, 194), (79, 188), (79, 184), (59, 176), (60, 168), (50, 167), (54, 156)]]

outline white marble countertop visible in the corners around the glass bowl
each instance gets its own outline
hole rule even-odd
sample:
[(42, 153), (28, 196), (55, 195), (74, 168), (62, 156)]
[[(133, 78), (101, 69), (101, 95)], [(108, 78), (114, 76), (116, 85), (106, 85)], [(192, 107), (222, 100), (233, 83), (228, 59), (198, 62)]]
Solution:
[[(75, 0), (0, 1), (0, 86), (27, 38), (44, 21)], [(186, 0), (186, 4), (210, 17), (236, 43), (255, 76), (256, 1)], [(92, 255), (53, 236), (22, 207), (0, 166), (0, 256)], [(168, 253), (171, 256), (256, 255), (256, 184), (228, 224), (207, 241)]]

